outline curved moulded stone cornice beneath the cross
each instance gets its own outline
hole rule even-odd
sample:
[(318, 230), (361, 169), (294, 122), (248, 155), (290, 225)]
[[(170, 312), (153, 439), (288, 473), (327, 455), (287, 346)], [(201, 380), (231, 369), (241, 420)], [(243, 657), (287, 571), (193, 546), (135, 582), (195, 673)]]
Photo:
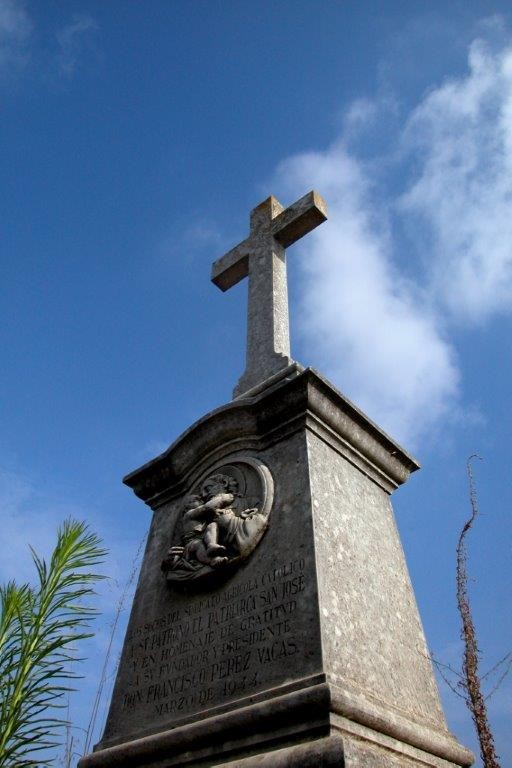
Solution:
[(314, 369), (306, 368), (254, 397), (221, 406), (196, 421), (166, 451), (123, 482), (151, 507), (180, 494), (195, 467), (219, 450), (261, 450), (300, 428), (315, 431), (387, 491), (418, 462)]

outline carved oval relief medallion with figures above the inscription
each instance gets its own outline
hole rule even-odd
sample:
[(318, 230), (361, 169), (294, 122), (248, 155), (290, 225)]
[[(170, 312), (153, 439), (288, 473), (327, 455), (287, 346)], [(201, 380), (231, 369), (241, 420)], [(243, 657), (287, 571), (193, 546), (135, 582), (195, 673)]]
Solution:
[(213, 580), (249, 557), (268, 527), (273, 490), (270, 471), (252, 457), (205, 473), (183, 500), (162, 562), (167, 580)]

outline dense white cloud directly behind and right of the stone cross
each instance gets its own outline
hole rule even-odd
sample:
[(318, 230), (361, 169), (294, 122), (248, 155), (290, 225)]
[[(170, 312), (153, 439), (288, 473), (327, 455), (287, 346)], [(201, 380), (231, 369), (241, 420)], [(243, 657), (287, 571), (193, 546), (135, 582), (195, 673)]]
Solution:
[(298, 155), (277, 172), (315, 187), (330, 221), (303, 241), (300, 331), (315, 364), (398, 439), (414, 441), (457, 393), (453, 350), (420, 289), (391, 258), (385, 208), (343, 143)]

